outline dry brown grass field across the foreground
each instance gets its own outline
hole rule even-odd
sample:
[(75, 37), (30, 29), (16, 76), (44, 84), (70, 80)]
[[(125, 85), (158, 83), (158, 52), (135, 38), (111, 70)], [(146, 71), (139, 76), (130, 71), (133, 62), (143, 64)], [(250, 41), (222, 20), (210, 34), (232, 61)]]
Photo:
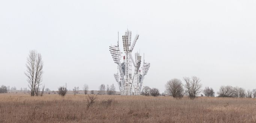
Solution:
[[(98, 95), (87, 108), (87, 95), (30, 97), (0, 94), (1, 123), (256, 123), (256, 99)], [(109, 107), (102, 100), (114, 99)]]

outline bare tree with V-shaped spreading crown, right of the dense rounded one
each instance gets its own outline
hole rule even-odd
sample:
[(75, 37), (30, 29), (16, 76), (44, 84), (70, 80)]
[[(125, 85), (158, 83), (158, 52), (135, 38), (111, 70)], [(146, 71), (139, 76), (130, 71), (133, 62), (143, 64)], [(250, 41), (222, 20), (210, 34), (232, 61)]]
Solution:
[(200, 83), (201, 80), (197, 78), (196, 76), (193, 76), (191, 79), (188, 77), (184, 77), (185, 81), (185, 93), (188, 94), (188, 97), (191, 100), (194, 100), (194, 98), (201, 92), (202, 84)]

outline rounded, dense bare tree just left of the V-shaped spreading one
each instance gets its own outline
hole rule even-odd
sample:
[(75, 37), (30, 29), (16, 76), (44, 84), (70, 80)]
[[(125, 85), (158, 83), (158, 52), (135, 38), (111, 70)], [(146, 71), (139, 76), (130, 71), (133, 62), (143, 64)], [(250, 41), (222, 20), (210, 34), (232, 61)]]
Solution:
[(166, 85), (166, 94), (171, 95), (173, 98), (182, 98), (184, 95), (184, 89), (182, 82), (179, 79), (171, 79)]

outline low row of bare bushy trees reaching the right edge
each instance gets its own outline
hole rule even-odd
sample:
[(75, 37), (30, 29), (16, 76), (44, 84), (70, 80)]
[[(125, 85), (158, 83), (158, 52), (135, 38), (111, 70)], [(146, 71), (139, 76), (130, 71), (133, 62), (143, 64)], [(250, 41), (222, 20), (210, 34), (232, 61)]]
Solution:
[(247, 90), (233, 86), (221, 86), (217, 92), (218, 97), (248, 97), (256, 98), (256, 89)]

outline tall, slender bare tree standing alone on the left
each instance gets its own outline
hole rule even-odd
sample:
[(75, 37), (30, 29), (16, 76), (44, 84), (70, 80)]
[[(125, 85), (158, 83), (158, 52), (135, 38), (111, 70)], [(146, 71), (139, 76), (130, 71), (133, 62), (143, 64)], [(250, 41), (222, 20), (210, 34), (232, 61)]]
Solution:
[(25, 75), (27, 76), (27, 82), (29, 83), (30, 95), (38, 95), (43, 74), (41, 54), (37, 53), (35, 50), (31, 50), (29, 52), (29, 57), (27, 57), (26, 67), (27, 71), (25, 72)]

